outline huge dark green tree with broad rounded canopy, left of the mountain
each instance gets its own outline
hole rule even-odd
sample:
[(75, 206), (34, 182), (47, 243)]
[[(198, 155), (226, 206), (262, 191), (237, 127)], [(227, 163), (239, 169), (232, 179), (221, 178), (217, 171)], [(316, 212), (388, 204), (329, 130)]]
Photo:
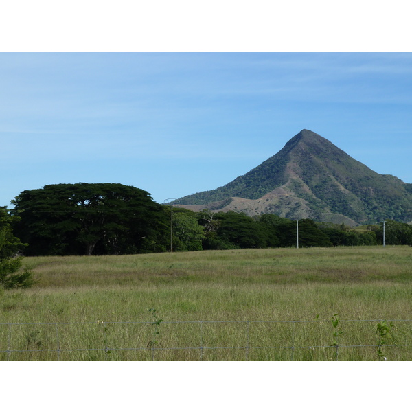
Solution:
[(25, 190), (12, 213), (27, 255), (163, 251), (168, 230), (163, 207), (150, 194), (119, 183), (46, 185)]

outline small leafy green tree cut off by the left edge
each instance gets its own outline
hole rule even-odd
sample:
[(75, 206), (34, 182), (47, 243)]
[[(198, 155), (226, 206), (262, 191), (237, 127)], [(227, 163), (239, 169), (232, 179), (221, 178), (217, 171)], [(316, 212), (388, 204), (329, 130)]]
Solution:
[(12, 224), (19, 220), (8, 214), (7, 207), (0, 207), (0, 286), (5, 289), (29, 288), (34, 284), (32, 272), (22, 268), (23, 258), (17, 253), (27, 246), (12, 233)]

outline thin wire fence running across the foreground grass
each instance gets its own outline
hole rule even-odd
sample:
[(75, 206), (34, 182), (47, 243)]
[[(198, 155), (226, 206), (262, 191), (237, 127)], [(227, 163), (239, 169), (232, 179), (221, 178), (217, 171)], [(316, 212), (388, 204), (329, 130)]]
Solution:
[(412, 320), (0, 323), (1, 360), (412, 360)]

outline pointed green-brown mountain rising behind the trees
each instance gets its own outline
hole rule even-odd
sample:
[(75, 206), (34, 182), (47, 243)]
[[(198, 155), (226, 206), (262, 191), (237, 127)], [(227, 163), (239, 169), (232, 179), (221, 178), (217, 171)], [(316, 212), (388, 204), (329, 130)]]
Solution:
[(347, 225), (412, 220), (412, 184), (378, 174), (328, 139), (301, 130), (276, 155), (216, 190), (174, 202), (187, 209), (270, 213)]

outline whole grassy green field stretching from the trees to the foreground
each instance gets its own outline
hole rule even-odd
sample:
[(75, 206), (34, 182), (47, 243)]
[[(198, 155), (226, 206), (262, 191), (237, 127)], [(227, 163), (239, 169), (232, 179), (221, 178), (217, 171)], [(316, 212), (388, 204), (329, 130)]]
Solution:
[(0, 290), (0, 359), (378, 359), (376, 329), (385, 319), (404, 320), (393, 321), (396, 341), (389, 332), (381, 338), (385, 357), (412, 359), (410, 247), (25, 264), (39, 282)]

